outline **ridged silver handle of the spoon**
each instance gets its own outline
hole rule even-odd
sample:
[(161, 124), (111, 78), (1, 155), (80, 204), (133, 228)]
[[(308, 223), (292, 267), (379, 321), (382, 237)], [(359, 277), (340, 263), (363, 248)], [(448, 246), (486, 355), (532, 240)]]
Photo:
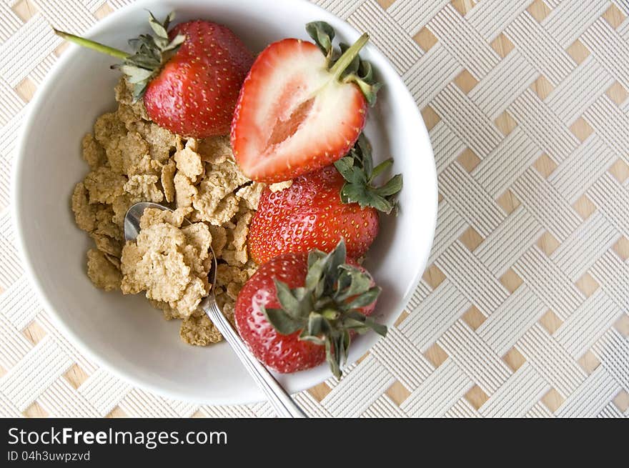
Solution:
[(260, 387), (262, 392), (267, 396), (277, 416), (285, 418), (306, 418), (307, 415), (297, 406), (297, 403), (287, 394), (267, 368), (249, 352), (247, 346), (237, 332), (234, 331), (232, 324), (225, 318), (219, 310), (216, 301), (213, 299), (212, 296), (207, 297), (201, 304), (202, 309), (209, 319), (212, 320), (214, 326), (219, 329), (224, 339), (229, 343), (232, 349), (234, 349), (236, 356), (240, 359), (242, 364), (244, 364), (244, 367), (247, 368), (247, 371), (249, 371), (249, 374), (254, 378), (258, 387)]

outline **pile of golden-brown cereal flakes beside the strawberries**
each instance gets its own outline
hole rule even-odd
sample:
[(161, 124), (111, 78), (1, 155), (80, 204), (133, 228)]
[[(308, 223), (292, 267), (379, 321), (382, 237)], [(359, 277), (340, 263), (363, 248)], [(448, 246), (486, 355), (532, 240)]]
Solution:
[[(186, 139), (157, 126), (124, 79), (115, 96), (117, 109), (99, 116), (81, 141), (89, 172), (71, 196), (76, 225), (94, 241), (88, 277), (105, 291), (143, 292), (165, 319), (182, 320), (184, 342), (219, 342), (197, 309), (211, 287), (209, 246), (218, 262), (217, 304), (233, 322), (237, 294), (257, 268), (247, 234), (264, 184), (239, 171), (229, 136)], [(124, 242), (124, 216), (138, 201), (174, 211), (146, 209), (137, 239)]]

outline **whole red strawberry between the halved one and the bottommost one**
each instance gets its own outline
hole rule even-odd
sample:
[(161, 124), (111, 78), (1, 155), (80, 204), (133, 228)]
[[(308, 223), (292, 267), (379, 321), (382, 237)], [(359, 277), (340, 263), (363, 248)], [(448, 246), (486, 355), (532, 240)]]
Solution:
[(399, 175), (372, 186), (390, 162), (372, 169), (370, 145), (361, 136), (336, 166), (299, 176), (282, 191), (264, 189), (247, 239), (254, 261), (262, 264), (279, 254), (311, 249), (330, 252), (340, 239), (350, 257), (361, 257), (378, 234), (378, 210), (395, 209), (392, 196), (402, 188)]

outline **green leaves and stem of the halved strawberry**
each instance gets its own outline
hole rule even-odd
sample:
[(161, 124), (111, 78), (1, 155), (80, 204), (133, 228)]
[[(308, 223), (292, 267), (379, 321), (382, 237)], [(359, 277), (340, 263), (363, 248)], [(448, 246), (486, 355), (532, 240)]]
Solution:
[(367, 44), (369, 35), (367, 33), (362, 34), (352, 46), (340, 43), (339, 51), (332, 45), (336, 33), (330, 24), (325, 21), (312, 21), (306, 24), (306, 31), (312, 37), (314, 44), (317, 44), (325, 55), (327, 69), (330, 70), (330, 73), (343, 83), (357, 84), (365, 96), (367, 104), (373, 106), (376, 102), (378, 89), (382, 87), (382, 84), (375, 80), (371, 64), (362, 60), (358, 55), (360, 49)]

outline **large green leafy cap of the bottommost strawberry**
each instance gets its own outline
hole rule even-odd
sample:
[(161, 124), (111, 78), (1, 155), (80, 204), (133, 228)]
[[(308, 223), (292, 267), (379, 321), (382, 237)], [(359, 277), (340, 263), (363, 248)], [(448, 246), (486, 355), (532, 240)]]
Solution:
[(303, 287), (290, 289), (274, 279), (280, 309), (262, 307), (262, 312), (279, 334), (301, 330), (299, 339), (325, 346), (325, 356), (332, 374), (340, 379), (341, 366), (347, 362), (350, 331), (364, 334), (373, 330), (383, 337), (387, 327), (360, 313), (373, 304), (380, 287), (372, 277), (345, 263), (345, 241), (325, 254), (314, 249), (308, 254), (308, 272)]

